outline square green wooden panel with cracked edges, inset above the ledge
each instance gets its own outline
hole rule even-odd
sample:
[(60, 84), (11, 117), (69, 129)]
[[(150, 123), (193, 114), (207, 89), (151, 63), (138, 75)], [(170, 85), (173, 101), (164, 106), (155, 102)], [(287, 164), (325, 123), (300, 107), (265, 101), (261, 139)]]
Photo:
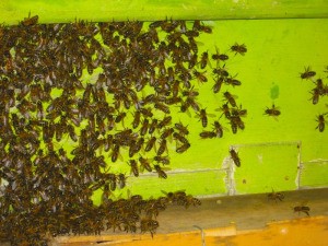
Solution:
[(298, 145), (298, 142), (282, 142), (234, 147), (243, 161), (241, 167), (234, 168), (235, 192), (297, 189)]

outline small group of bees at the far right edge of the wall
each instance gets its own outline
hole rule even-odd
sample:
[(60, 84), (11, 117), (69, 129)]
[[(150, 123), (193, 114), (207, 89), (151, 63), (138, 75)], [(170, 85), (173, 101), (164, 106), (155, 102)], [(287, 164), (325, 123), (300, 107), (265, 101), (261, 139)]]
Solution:
[[(326, 67), (325, 72), (328, 72), (328, 66)], [(305, 68), (305, 71), (301, 73), (302, 80), (309, 80), (315, 84), (315, 87), (311, 91), (311, 94), (312, 94), (311, 99), (314, 105), (319, 103), (320, 97), (328, 96), (328, 84), (325, 84), (324, 80), (320, 78), (315, 79), (316, 74), (317, 73), (315, 71), (313, 71), (311, 69), (311, 67)], [(316, 118), (316, 121), (317, 121), (316, 129), (318, 129), (320, 132), (323, 132), (325, 130), (325, 126), (327, 122), (325, 119), (325, 116), (327, 114), (328, 114), (328, 112), (325, 112), (323, 114), (319, 114)]]

